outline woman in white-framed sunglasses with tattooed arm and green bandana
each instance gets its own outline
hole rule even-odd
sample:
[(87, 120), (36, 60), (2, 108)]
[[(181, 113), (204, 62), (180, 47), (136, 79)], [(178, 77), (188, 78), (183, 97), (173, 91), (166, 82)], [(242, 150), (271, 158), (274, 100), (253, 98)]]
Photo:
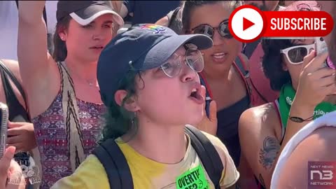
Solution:
[(276, 159), (289, 139), (314, 118), (336, 110), (335, 96), (329, 96), (336, 92), (336, 71), (323, 66), (328, 53), (316, 55), (313, 38), (265, 39), (262, 48), (263, 69), (280, 97), (242, 114), (239, 139), (255, 177), (269, 188)]

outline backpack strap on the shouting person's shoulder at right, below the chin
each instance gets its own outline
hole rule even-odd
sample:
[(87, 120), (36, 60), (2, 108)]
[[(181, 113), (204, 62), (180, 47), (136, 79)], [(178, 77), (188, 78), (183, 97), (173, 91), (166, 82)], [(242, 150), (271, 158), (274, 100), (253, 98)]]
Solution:
[(215, 188), (220, 189), (219, 182), (221, 181), (224, 167), (215, 146), (200, 130), (191, 125), (186, 125), (186, 134), (189, 135), (190, 143), (202, 161), (204, 169), (212, 183), (214, 183)]

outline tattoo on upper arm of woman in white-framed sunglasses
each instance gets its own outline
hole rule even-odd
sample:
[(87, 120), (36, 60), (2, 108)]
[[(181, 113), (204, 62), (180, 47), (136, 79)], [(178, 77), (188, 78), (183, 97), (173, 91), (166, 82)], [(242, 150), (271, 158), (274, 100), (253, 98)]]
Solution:
[(259, 162), (262, 167), (265, 169), (271, 168), (279, 151), (279, 141), (272, 137), (266, 137), (259, 152)]

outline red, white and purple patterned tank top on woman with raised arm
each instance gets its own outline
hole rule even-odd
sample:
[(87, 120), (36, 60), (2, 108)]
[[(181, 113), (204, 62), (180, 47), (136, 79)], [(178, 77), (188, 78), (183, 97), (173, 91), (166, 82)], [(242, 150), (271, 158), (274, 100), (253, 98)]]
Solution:
[[(75, 146), (74, 151), (76, 167), (80, 163), (77, 160), (83, 160), (90, 155), (97, 146), (97, 140), (102, 136), (102, 115), (106, 111), (104, 104), (84, 102), (77, 99), (74, 93), (71, 94), (71, 91), (74, 92), (73, 82), (64, 62), (58, 62), (57, 66), (61, 74), (60, 90), (48, 109), (32, 119), (41, 155), (41, 189), (50, 188), (59, 179), (73, 173), (71, 154), (78, 139), (80, 146)], [(69, 97), (64, 97), (68, 94)], [(64, 102), (64, 99), (67, 102)], [(64, 107), (64, 103), (68, 103), (67, 107)], [(69, 125), (68, 120), (64, 119), (68, 114), (73, 116), (69, 118), (74, 119), (76, 124)], [(73, 127), (77, 130), (73, 130)], [(71, 134), (76, 134), (78, 139), (71, 138)], [(82, 152), (78, 148), (83, 148)], [(83, 153), (84, 157), (80, 158), (79, 153)]]

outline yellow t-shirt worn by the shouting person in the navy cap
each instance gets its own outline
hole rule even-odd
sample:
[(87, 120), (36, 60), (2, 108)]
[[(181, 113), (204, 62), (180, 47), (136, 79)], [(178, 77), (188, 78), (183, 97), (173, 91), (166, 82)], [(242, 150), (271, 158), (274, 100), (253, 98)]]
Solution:
[[(224, 169), (220, 185), (221, 187), (228, 188), (237, 182), (239, 179), (239, 172), (237, 172), (235, 164), (224, 144), (217, 137), (207, 133), (204, 134), (211, 143), (214, 144), (221, 157)], [(176, 178), (178, 178), (181, 174), (188, 172), (190, 169), (198, 167), (199, 165), (202, 166), (195, 149), (190, 144), (190, 139), (188, 139), (189, 144), (185, 157), (181, 160), (181, 162), (174, 165), (167, 165), (150, 160), (137, 153), (137, 151), (128, 144), (120, 142), (121, 139), (117, 139), (116, 141), (121, 151), (123, 151), (128, 165), (130, 166), (135, 189), (176, 188)], [(205, 172), (203, 166), (202, 169), (204, 170), (204, 174), (209, 183), (209, 188), (214, 188), (214, 184), (209, 179), (209, 176), (207, 172)], [(191, 178), (191, 180), (193, 180), (193, 178)], [(76, 169), (76, 172), (74, 172), (71, 176), (67, 176), (57, 181), (57, 183), (52, 186), (52, 189), (55, 188), (109, 189), (110, 185), (102, 164), (96, 156), (89, 155), (78, 167), (78, 169)], [(113, 188), (113, 186), (111, 188)]]

